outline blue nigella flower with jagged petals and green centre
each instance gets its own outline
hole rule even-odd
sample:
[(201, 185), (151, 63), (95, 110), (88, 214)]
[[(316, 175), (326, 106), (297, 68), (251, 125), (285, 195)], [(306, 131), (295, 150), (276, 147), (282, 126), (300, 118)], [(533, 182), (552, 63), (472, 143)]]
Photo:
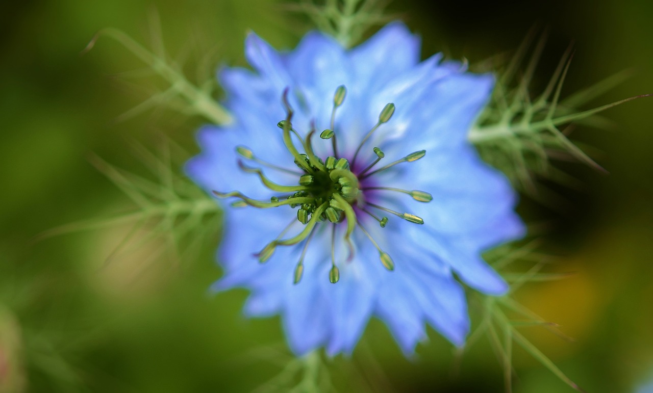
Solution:
[[(223, 69), (234, 122), (199, 132), (187, 173), (231, 198), (218, 289), (280, 314), (291, 349), (351, 353), (370, 317), (407, 354), (430, 324), (462, 345), (462, 285), (503, 294), (481, 251), (522, 235), (515, 194), (466, 136), (493, 86), (387, 25), (351, 50), (321, 33), (279, 53), (254, 34), (254, 71)], [(264, 262), (263, 264), (259, 262)]]

